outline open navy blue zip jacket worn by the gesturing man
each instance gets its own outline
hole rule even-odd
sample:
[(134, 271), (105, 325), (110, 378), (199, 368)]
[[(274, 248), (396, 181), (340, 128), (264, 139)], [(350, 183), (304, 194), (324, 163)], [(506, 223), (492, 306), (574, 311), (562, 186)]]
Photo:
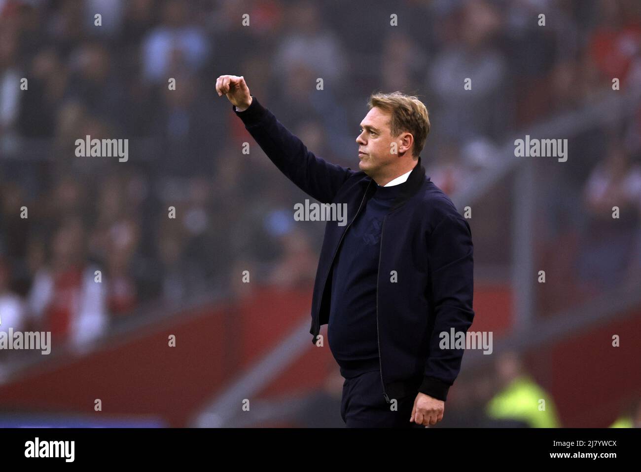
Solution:
[[(328, 323), (328, 277), (345, 231), (372, 195), (376, 182), (320, 159), (263, 107), (256, 97), (239, 112), (245, 128), (276, 167), (321, 203), (347, 204), (347, 225), (328, 221), (312, 297), (312, 342)], [(472, 232), (449, 197), (418, 162), (408, 185), (383, 218), (376, 312), (383, 395), (416, 391), (447, 399), (463, 349), (441, 349), (440, 333), (467, 333), (472, 324)]]

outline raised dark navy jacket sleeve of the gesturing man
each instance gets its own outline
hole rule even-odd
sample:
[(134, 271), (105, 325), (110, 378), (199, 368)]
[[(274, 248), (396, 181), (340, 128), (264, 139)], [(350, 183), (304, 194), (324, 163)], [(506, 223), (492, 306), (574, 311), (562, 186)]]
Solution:
[(231, 109), (242, 119), (249, 134), (276, 167), (304, 193), (319, 202), (333, 202), (347, 177), (356, 173), (350, 168), (316, 157), (253, 95), (251, 105), (246, 110), (239, 112), (234, 105), (231, 105)]

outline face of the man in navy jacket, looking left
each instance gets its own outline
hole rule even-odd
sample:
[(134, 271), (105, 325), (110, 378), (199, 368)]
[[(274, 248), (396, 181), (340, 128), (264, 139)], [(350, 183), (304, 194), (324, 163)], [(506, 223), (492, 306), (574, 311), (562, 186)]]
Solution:
[(391, 118), (391, 112), (374, 107), (360, 123), (361, 133), (356, 138), (358, 167), (372, 179), (385, 175), (383, 170), (398, 159), (398, 155), (390, 153), (390, 144), (396, 141), (390, 135)]

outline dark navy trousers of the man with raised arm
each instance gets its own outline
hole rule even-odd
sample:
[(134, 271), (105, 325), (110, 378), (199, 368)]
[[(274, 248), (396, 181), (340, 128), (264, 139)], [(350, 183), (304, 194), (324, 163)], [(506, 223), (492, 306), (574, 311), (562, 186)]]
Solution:
[(392, 404), (383, 397), (380, 371), (365, 372), (345, 378), (340, 416), (347, 428), (425, 428), (410, 423), (417, 394), (418, 390), (397, 398), (396, 408), (392, 410)]

